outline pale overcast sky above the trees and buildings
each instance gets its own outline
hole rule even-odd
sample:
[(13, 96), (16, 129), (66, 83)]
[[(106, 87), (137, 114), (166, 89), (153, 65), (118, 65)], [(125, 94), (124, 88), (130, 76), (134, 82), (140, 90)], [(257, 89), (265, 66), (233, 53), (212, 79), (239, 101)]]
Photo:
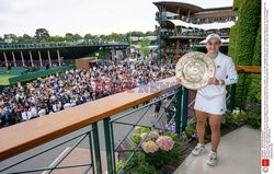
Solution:
[[(178, 1), (178, 0), (173, 0)], [(153, 31), (157, 8), (152, 0), (0, 0), (0, 36), (84, 35)], [(202, 8), (232, 5), (232, 0), (181, 0)]]

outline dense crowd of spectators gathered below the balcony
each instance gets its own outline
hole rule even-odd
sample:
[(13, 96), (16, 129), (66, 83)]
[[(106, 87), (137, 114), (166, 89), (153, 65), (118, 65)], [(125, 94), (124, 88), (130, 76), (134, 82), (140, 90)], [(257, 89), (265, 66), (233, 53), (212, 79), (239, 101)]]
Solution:
[(0, 124), (26, 121), (159, 81), (174, 76), (174, 69), (173, 63), (158, 65), (152, 60), (103, 61), (88, 71), (72, 69), (25, 85), (8, 86), (0, 94)]

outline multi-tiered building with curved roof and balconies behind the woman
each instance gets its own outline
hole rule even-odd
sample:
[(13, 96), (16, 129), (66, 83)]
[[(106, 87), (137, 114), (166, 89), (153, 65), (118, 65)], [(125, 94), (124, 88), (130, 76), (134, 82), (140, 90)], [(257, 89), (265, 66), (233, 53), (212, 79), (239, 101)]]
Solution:
[(159, 25), (159, 55), (161, 59), (176, 61), (203, 44), (210, 33), (218, 33), (222, 44), (229, 42), (230, 27), (237, 21), (232, 7), (203, 9), (195, 4), (176, 1), (156, 1), (156, 21)]

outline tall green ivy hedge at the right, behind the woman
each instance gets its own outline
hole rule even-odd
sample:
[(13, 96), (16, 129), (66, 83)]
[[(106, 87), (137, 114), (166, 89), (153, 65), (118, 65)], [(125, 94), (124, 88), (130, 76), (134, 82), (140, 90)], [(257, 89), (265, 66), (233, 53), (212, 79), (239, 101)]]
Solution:
[[(260, 66), (261, 65), (261, 0), (235, 0), (233, 10), (238, 10), (238, 21), (230, 28), (230, 42), (228, 55), (233, 58), (236, 65)], [(239, 73), (236, 105), (240, 102), (260, 103), (260, 76), (255, 79), (246, 79), (244, 91), (242, 91), (243, 74)], [(243, 93), (242, 93), (243, 92)], [(243, 96), (241, 101), (241, 95)]]

